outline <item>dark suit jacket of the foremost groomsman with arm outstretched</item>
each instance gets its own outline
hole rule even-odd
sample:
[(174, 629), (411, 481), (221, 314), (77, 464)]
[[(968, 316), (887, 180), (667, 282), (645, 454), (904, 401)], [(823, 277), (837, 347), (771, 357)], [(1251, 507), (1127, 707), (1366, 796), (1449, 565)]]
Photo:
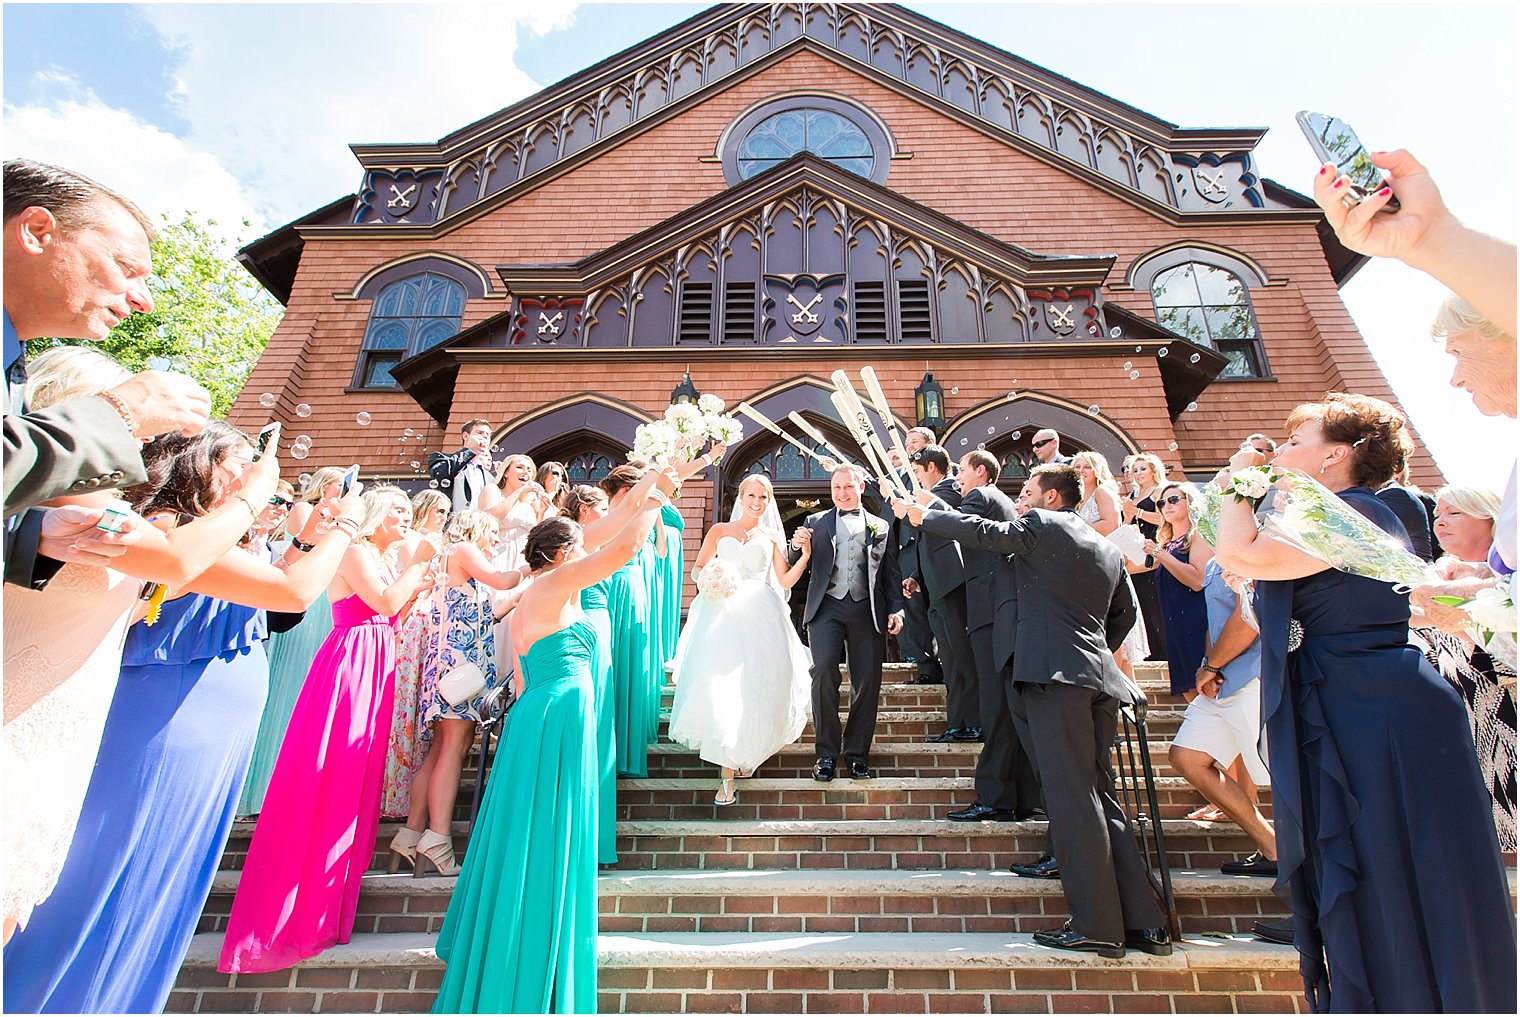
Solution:
[(1113, 651), (1135, 622), (1123, 555), (1067, 509), (1009, 521), (927, 511), (924, 528), (1018, 559), (1014, 681), (1059, 683), (1128, 701)]

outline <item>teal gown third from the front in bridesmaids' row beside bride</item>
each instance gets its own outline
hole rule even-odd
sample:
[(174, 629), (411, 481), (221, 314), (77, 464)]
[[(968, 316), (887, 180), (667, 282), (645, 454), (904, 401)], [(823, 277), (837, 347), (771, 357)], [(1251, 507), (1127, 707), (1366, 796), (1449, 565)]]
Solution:
[(613, 573), (606, 588), (606, 611), (613, 617), (613, 724), (620, 777), (649, 775), (649, 731), (660, 725), (660, 699), (651, 696), (646, 561), (648, 555), (640, 550)]

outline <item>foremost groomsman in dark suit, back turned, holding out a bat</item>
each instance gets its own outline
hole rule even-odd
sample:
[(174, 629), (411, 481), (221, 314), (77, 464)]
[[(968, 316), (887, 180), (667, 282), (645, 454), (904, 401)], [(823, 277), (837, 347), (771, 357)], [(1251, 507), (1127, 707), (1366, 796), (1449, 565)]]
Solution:
[(1126, 947), (1169, 955), (1172, 941), (1108, 768), (1119, 704), (1128, 698), (1113, 651), (1135, 622), (1135, 602), (1119, 549), (1076, 515), (1079, 497), (1076, 471), (1047, 464), (1024, 483), (1026, 511), (1011, 521), (904, 508), (910, 520), (965, 546), (1018, 558), (1009, 707), (1040, 772), (1072, 912), (1066, 927), (1037, 932), (1035, 941), (1108, 958)]

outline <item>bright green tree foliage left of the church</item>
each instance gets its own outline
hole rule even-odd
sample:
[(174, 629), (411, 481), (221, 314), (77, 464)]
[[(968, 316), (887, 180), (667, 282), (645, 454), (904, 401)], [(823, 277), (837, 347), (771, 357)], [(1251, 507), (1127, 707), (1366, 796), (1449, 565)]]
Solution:
[[(243, 220), (246, 228), (249, 223)], [(185, 213), (178, 222), (164, 216), (154, 240), (154, 293), (150, 315), (132, 315), (93, 345), (129, 371), (147, 368), (182, 371), (211, 392), (211, 412), (226, 417), (248, 372), (284, 313), (231, 255), (234, 243), (216, 220), (199, 222)], [(59, 339), (33, 339), (27, 356)], [(70, 339), (68, 344), (79, 341)]]

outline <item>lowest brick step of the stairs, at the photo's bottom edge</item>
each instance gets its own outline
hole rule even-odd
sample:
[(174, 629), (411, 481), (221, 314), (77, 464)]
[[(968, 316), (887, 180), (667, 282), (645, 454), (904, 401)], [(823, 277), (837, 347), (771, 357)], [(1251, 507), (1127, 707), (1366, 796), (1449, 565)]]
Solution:
[[(354, 935), (284, 971), (220, 974), (190, 944), (166, 1012), (424, 1012), (427, 933)], [(623, 933), (597, 939), (599, 1012), (1295, 1012), (1292, 947), (1187, 938), (1172, 956), (1049, 950), (1028, 933)]]

